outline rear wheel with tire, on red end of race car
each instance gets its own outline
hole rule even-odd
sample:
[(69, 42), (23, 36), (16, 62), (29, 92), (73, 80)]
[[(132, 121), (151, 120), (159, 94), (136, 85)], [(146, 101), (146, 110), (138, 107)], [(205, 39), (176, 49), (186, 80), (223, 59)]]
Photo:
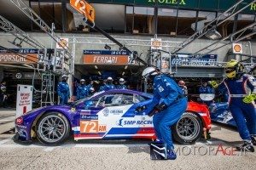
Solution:
[(172, 126), (174, 140), (179, 144), (194, 144), (203, 132), (201, 118), (195, 113), (184, 112), (176, 124)]

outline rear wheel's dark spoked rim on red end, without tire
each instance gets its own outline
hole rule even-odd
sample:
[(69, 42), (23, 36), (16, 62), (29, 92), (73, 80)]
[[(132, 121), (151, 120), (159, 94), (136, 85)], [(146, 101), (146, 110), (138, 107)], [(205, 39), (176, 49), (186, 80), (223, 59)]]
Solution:
[(176, 127), (178, 136), (184, 140), (193, 140), (200, 132), (200, 123), (192, 116), (183, 116)]

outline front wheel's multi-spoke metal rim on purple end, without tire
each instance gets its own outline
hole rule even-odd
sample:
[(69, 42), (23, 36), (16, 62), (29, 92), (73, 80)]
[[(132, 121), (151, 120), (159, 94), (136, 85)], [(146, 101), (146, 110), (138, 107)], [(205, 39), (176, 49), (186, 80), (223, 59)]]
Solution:
[(60, 116), (46, 116), (38, 125), (38, 135), (49, 143), (57, 142), (65, 133), (65, 122)]

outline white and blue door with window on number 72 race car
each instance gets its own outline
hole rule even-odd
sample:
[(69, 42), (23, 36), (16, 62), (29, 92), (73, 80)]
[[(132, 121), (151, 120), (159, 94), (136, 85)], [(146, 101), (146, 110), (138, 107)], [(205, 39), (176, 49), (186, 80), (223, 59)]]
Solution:
[[(131, 97), (130, 97), (131, 96)], [(105, 139), (124, 139), (129, 138), (133, 133), (132, 127), (136, 127), (134, 122), (134, 112), (132, 107), (132, 94), (108, 94), (104, 96), (102, 105), (104, 110), (98, 113), (99, 122), (106, 125), (107, 132)], [(124, 115), (126, 115), (124, 117)], [(127, 118), (128, 115), (128, 118)]]

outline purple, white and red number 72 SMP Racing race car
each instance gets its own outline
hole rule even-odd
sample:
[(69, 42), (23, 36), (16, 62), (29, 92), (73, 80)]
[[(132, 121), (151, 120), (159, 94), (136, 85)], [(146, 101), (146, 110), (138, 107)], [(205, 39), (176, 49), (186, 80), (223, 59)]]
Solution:
[[(61, 144), (71, 134), (74, 140), (155, 139), (150, 111), (137, 111), (152, 99), (152, 94), (114, 89), (70, 105), (44, 106), (16, 118), (15, 139), (38, 139), (47, 145)], [(211, 128), (207, 105), (189, 102), (187, 111), (170, 128), (177, 142), (195, 143)]]

